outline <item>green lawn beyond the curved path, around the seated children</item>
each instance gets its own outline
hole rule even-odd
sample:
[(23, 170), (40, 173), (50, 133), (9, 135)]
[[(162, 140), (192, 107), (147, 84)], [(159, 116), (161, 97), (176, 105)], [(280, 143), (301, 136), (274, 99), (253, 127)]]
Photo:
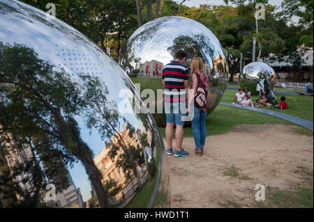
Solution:
[[(225, 90), (223, 99), (221, 102), (232, 102), (235, 93), (237, 90)], [(285, 101), (288, 104), (288, 109), (271, 109), (273, 111), (289, 114), (292, 116), (297, 116), (300, 118), (305, 118), (306, 120), (313, 121), (313, 97), (311, 96), (302, 96), (302, 95), (287, 95), (287, 94), (275, 94), (278, 102), (280, 102), (281, 96), (285, 96)], [(253, 101), (257, 99), (257, 96), (252, 96)], [(265, 106), (260, 106), (259, 109), (268, 109)]]

